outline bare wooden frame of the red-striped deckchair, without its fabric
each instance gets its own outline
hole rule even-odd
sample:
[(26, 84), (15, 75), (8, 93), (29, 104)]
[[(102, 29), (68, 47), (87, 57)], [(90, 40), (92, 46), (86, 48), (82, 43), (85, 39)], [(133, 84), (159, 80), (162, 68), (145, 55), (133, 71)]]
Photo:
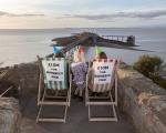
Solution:
[[(89, 63), (89, 69), (90, 69), (90, 64)], [(117, 64), (115, 64), (115, 73), (114, 73), (114, 84), (112, 85), (112, 88), (114, 86), (114, 96), (115, 100), (113, 100), (112, 96), (112, 89), (110, 89), (108, 91), (108, 95), (105, 98), (100, 98), (100, 96), (90, 96), (90, 89), (89, 89), (89, 72), (86, 74), (86, 89), (85, 89), (85, 104), (89, 108), (89, 121), (92, 122), (96, 122), (96, 121), (115, 121), (117, 122), (117, 114), (116, 114), (116, 110), (115, 106), (117, 106)], [(102, 93), (102, 92), (101, 92)], [(97, 101), (100, 99), (107, 99), (110, 98), (110, 101)], [(91, 101), (91, 100), (96, 100), (96, 101)], [(92, 111), (91, 111), (91, 106), (92, 105), (100, 105), (100, 106), (104, 106), (104, 105), (108, 105), (112, 108), (113, 110), (113, 116), (92, 116)]]

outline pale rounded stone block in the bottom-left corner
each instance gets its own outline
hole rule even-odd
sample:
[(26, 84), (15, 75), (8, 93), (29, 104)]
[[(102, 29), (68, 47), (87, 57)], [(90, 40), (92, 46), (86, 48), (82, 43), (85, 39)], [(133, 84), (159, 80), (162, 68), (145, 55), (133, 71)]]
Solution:
[(0, 99), (0, 133), (19, 133), (20, 108), (13, 98)]

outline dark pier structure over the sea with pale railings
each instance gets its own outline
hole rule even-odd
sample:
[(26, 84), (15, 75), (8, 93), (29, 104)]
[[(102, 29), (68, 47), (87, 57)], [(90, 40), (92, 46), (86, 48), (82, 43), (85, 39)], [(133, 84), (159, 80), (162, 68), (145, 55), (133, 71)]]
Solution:
[(61, 52), (65, 54), (68, 51), (72, 50), (76, 45), (81, 44), (83, 47), (107, 47), (116, 49), (128, 49), (136, 50), (135, 37), (129, 35), (98, 35), (96, 33), (83, 32), (83, 33), (72, 33), (71, 37), (55, 38), (52, 40), (56, 47), (63, 47)]

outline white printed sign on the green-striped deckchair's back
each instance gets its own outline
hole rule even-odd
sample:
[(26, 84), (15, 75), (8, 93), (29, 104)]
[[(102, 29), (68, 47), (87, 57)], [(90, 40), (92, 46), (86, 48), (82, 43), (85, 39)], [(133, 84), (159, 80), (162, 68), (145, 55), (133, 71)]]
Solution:
[(42, 61), (48, 81), (64, 81), (64, 61)]

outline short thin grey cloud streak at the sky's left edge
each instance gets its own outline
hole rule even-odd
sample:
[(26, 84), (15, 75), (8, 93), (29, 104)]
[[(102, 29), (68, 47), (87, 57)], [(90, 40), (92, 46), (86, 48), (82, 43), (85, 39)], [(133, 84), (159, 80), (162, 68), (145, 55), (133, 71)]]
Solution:
[(0, 17), (43, 17), (44, 14), (42, 13), (10, 13), (10, 12), (4, 12), (0, 11)]

